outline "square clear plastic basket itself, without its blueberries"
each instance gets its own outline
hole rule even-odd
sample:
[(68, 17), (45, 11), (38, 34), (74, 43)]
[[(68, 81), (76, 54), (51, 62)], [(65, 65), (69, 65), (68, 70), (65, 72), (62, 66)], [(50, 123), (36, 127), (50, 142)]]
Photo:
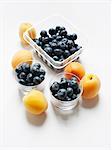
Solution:
[(76, 60), (79, 58), (82, 48), (80, 48), (77, 52), (69, 56), (67, 59), (59, 62), (55, 61), (52, 57), (50, 57), (40, 46), (38, 46), (30, 37), (29, 32), (32, 30), (32, 28), (37, 29), (37, 38), (40, 37), (40, 31), (41, 30), (47, 30), (52, 27), (56, 27), (57, 25), (66, 27), (68, 33), (76, 33), (78, 35), (78, 38), (76, 40), (76, 44), (83, 47), (82, 43), (82, 35), (78, 30), (74, 28), (74, 25), (72, 25), (67, 19), (64, 17), (61, 17), (59, 15), (53, 15), (51, 17), (46, 18), (45, 20), (38, 23), (36, 26), (32, 26), (30, 29), (28, 29), (23, 37), (24, 39), (33, 47), (33, 49), (36, 51), (37, 55), (52, 69), (58, 71), (62, 70), (66, 65), (68, 65), (70, 62)]

